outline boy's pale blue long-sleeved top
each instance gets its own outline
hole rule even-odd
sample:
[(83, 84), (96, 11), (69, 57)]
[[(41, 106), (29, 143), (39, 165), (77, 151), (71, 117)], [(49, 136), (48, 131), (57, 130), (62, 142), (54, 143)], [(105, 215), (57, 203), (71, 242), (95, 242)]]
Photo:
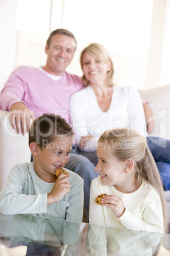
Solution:
[(60, 201), (47, 205), (47, 194), (55, 183), (41, 180), (34, 171), (33, 162), (16, 164), (0, 193), (0, 213), (34, 214), (81, 222), (84, 181), (78, 174), (65, 170), (69, 174), (70, 192)]

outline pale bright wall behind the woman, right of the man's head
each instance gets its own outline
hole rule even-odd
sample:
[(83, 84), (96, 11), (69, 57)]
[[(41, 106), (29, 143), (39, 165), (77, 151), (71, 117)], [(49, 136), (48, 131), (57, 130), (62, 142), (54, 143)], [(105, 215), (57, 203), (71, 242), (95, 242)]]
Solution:
[(67, 70), (74, 72), (76, 67), (81, 73), (79, 55), (82, 48), (91, 42), (101, 43), (114, 62), (114, 83), (143, 88), (153, 1), (65, 0), (63, 27), (73, 31), (77, 38), (76, 58)]

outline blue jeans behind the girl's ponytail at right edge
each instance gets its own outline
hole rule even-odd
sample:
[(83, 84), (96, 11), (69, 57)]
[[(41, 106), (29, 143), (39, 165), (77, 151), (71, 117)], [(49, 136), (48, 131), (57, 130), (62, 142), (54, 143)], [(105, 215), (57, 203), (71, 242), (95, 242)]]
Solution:
[(148, 147), (159, 169), (165, 190), (170, 190), (170, 141), (158, 137), (147, 137)]

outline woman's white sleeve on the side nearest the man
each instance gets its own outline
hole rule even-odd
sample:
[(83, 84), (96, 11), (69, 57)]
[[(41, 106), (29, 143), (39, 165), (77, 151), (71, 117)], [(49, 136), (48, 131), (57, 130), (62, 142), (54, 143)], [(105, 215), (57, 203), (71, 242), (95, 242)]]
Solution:
[(88, 127), (90, 127), (89, 119), (86, 117), (86, 94), (83, 89), (75, 92), (70, 97), (70, 121), (75, 132), (75, 139), (79, 143), (81, 136), (88, 135)]

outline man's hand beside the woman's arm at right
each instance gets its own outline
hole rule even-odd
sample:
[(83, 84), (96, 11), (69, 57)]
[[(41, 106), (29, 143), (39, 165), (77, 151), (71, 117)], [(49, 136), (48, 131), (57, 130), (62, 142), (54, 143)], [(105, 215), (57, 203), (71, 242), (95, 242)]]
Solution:
[(154, 129), (155, 117), (154, 117), (152, 108), (150, 108), (149, 104), (143, 103), (143, 110), (144, 110), (145, 119), (147, 122), (147, 132), (149, 134)]

